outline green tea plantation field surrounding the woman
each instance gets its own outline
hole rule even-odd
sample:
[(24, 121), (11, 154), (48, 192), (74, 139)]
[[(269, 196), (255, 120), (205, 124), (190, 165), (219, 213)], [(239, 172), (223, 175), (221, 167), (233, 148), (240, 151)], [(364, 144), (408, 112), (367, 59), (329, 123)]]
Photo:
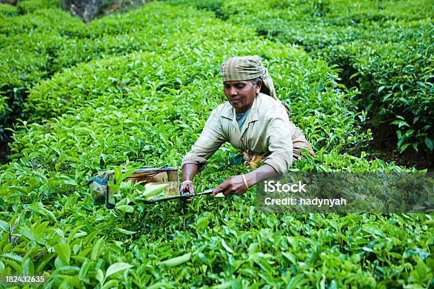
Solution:
[[(396, 11), (405, 13), (398, 16), (392, 6), (369, 10), (367, 2), (373, 1), (364, 2), (373, 19), (360, 21), (364, 26), (389, 17), (402, 25), (420, 21), (411, 25), (428, 30), (421, 33), (425, 42), (415, 40), (422, 52), (409, 56), (420, 64), (404, 67), (422, 75), (423, 84), (397, 91), (386, 74), (378, 84), (367, 83), (362, 69), (360, 86), (343, 83), (342, 68), (318, 57), (325, 53), (321, 43), (308, 39), (314, 25), (311, 33), (297, 32), (310, 46), (288, 40), (295, 37), (291, 31), (299, 26), (291, 23), (299, 17), (282, 26), (255, 18), (269, 20), (273, 13), (289, 13), (288, 7), (329, 2), (275, 0), (269, 9), (258, 8), (264, 1), (224, 2), (152, 2), (87, 24), (57, 8), (56, 1), (0, 4), (0, 121), (12, 133), (10, 162), (0, 165), (1, 288), (33, 286), (5, 283), (4, 276), (11, 275), (44, 276), (37, 288), (433, 287), (433, 215), (266, 214), (255, 206), (255, 188), (243, 196), (206, 196), (138, 210), (93, 205), (86, 183), (99, 171), (180, 165), (211, 110), (226, 100), (220, 64), (234, 55), (262, 57), (279, 98), (291, 106), (291, 119), (316, 151), (291, 171), (416, 171), (368, 160), (372, 133), (364, 129), (367, 110), (360, 110), (366, 89), (387, 104), (384, 115), (394, 113), (392, 98), (417, 102), (421, 117), (409, 123), (410, 114), (401, 115), (407, 125), (396, 123), (402, 134), (413, 130), (400, 145), (432, 149), (432, 10), (411, 18), (413, 1), (399, 1), (404, 8)], [(345, 2), (351, 1), (339, 1), (333, 15), (352, 21), (356, 13), (345, 10)], [(341, 45), (333, 53), (352, 45), (352, 40), (338, 43), (346, 30), (335, 30), (333, 38), (333, 26), (323, 24), (327, 28), (317, 28), (323, 42)], [(291, 28), (273, 32), (283, 26)], [(354, 41), (375, 42), (372, 28), (364, 33)], [(331, 51), (333, 45), (323, 46)], [(399, 76), (410, 62), (391, 51), (379, 52), (375, 61), (365, 57), (379, 65), (378, 57), (391, 57), (391, 73)], [(355, 49), (350, 60), (358, 61), (360, 53)], [(349, 65), (384, 71), (361, 61)], [(367, 105), (377, 106), (376, 101)], [(413, 128), (419, 120), (429, 128)], [(195, 177), (196, 191), (247, 171), (229, 164), (234, 153), (230, 145), (219, 149)]]

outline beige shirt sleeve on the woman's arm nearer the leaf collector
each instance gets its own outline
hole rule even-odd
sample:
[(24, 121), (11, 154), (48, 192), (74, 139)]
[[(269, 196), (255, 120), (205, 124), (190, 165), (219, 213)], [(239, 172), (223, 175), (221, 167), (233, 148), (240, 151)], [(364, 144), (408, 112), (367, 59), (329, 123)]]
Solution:
[(181, 167), (184, 164), (199, 164), (199, 171), (204, 169), (208, 164), (207, 159), (213, 155), (216, 150), (226, 142), (226, 137), (223, 135), (223, 129), (219, 121), (217, 110), (213, 110), (206, 120), (204, 130), (183, 158)]

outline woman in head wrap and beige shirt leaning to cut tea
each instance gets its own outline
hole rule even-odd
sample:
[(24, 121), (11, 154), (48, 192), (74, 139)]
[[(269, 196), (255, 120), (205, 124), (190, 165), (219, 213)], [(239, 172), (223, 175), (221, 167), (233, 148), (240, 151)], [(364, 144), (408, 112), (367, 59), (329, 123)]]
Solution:
[(224, 142), (261, 154), (265, 160), (255, 171), (230, 176), (213, 191), (214, 196), (241, 195), (260, 181), (286, 173), (293, 159), (301, 158), (301, 148), (313, 154), (303, 133), (289, 120), (259, 56), (226, 60), (221, 77), (228, 102), (211, 112), (198, 140), (182, 159), (180, 193), (194, 193), (191, 180)]

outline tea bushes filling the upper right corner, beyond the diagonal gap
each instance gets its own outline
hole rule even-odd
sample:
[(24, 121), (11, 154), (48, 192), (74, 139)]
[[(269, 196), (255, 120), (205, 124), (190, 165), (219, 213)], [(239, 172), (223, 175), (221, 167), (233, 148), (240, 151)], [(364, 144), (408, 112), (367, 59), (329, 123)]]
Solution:
[[(371, 125), (397, 147), (433, 151), (430, 1), (171, 1), (193, 3), (265, 37), (303, 46), (343, 69)], [(421, 9), (421, 7), (426, 7)]]

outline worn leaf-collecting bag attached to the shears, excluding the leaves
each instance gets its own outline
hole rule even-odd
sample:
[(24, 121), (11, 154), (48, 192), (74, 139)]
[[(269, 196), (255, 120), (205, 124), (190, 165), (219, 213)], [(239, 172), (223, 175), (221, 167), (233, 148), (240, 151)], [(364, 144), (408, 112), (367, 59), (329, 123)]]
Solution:
[[(122, 171), (122, 173), (124, 173)], [(87, 182), (87, 186), (94, 198), (94, 205), (105, 204), (106, 208), (113, 209), (116, 200), (109, 181), (114, 183), (114, 171), (104, 171), (98, 176), (94, 176)], [(123, 181), (133, 181), (140, 183), (169, 183), (165, 188), (167, 196), (178, 195), (178, 169), (176, 167), (162, 166), (152, 168), (150, 166), (141, 167)]]

